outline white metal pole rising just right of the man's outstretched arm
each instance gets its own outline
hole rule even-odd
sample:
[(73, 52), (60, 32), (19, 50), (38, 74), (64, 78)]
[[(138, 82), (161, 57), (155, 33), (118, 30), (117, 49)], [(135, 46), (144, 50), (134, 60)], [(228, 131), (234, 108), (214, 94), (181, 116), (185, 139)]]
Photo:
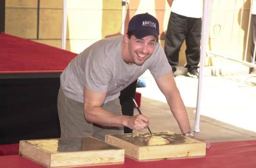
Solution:
[(201, 86), (203, 83), (204, 76), (204, 63), (206, 56), (206, 48), (209, 36), (209, 20), (210, 20), (210, 10), (211, 10), (211, 0), (204, 0), (203, 7), (203, 18), (202, 18), (202, 37), (201, 37), (201, 51), (200, 51), (200, 69), (198, 78), (198, 88), (197, 88), (197, 102), (196, 102), (196, 112), (195, 112), (195, 132), (200, 132), (199, 122), (200, 122), (200, 111), (201, 111)]

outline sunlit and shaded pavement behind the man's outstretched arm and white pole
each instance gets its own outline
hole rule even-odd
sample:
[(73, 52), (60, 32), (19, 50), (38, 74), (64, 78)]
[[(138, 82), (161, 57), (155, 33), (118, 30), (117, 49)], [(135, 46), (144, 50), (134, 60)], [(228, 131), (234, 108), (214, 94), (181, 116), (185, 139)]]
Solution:
[[(196, 137), (210, 142), (256, 140), (256, 77), (248, 74), (212, 76), (202, 79), (200, 101), (200, 132)], [(180, 133), (165, 97), (150, 72), (143, 78), (146, 87), (137, 88), (142, 94), (141, 111), (150, 119), (152, 132)], [(241, 84), (246, 78), (246, 81)], [(198, 79), (180, 73), (175, 77), (194, 130)], [(134, 109), (134, 114), (137, 110)], [(147, 130), (143, 130), (147, 132)]]

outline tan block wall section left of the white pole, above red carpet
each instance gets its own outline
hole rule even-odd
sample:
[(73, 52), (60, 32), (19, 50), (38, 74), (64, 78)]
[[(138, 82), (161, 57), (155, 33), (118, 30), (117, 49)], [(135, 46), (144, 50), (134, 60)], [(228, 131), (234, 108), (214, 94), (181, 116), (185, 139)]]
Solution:
[(5, 33), (61, 48), (62, 1), (6, 0)]

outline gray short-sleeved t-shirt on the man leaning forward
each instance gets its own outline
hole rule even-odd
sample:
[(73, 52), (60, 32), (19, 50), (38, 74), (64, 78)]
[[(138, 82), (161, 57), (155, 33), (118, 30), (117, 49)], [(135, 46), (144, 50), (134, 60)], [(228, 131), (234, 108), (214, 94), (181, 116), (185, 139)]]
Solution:
[(71, 60), (61, 73), (61, 89), (65, 96), (83, 103), (86, 87), (94, 92), (106, 92), (106, 103), (119, 97), (120, 91), (147, 69), (154, 78), (171, 71), (159, 43), (143, 65), (128, 65), (121, 55), (122, 40), (123, 36), (99, 40)]

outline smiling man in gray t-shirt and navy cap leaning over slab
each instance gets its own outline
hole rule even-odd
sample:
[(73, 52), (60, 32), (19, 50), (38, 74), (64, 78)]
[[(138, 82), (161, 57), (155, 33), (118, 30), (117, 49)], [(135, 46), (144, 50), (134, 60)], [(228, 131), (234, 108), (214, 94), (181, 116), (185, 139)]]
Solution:
[(69, 63), (61, 73), (58, 95), (61, 137), (94, 136), (104, 141), (106, 134), (123, 133), (124, 126), (145, 129), (148, 118), (122, 115), (118, 97), (147, 69), (166, 96), (181, 132), (194, 136), (158, 35), (157, 19), (138, 14), (126, 35), (99, 40)]

